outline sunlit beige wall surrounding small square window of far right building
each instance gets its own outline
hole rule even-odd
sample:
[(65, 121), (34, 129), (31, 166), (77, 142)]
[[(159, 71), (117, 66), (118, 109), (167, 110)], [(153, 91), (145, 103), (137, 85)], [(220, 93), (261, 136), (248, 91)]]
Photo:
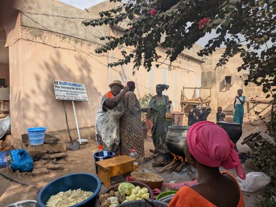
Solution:
[[(212, 87), (212, 102), (210, 104), (212, 110), (216, 111), (217, 107), (221, 106), (224, 111), (231, 114), (237, 90), (244, 86), (243, 71), (237, 71), (237, 67), (242, 64), (242, 59), (236, 55), (230, 58), (226, 65), (215, 70), (224, 50), (224, 48), (217, 49), (203, 64), (201, 86)], [(224, 84), (225, 76), (232, 76), (233, 85)], [(209, 92), (206, 90), (203, 93), (208, 94)]]

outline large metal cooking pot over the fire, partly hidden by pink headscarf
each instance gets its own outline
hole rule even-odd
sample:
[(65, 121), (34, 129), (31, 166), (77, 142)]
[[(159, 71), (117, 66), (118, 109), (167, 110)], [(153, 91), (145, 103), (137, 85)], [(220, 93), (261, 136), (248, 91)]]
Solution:
[(169, 126), (167, 128), (166, 144), (171, 153), (186, 157), (184, 147), (189, 128), (190, 126)]

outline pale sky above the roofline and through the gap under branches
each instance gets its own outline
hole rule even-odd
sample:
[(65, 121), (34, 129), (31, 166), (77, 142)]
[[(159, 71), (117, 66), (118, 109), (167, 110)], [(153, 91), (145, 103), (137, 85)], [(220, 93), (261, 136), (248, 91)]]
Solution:
[[(89, 8), (91, 6), (104, 2), (105, 0), (59, 0), (59, 1), (83, 10), (85, 8)], [(206, 34), (204, 37), (200, 38), (196, 43), (199, 44), (201, 47), (204, 47), (208, 43), (209, 39), (214, 38), (216, 36), (217, 34), (215, 30), (213, 30), (211, 34), (210, 33)]]

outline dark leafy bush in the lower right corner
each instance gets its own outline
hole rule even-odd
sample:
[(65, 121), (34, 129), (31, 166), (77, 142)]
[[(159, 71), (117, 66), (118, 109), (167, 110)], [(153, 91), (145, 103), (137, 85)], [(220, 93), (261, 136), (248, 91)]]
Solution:
[(258, 139), (257, 142), (261, 145), (250, 156), (256, 166), (270, 177), (269, 184), (262, 189), (260, 201), (263, 207), (275, 207), (273, 196), (276, 197), (276, 144), (263, 139)]

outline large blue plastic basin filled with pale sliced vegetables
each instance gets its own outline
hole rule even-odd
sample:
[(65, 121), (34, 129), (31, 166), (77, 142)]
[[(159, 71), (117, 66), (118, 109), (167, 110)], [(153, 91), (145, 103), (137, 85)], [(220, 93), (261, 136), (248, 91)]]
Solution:
[(94, 174), (68, 174), (43, 187), (37, 195), (37, 204), (39, 207), (95, 206), (101, 187), (100, 179)]

